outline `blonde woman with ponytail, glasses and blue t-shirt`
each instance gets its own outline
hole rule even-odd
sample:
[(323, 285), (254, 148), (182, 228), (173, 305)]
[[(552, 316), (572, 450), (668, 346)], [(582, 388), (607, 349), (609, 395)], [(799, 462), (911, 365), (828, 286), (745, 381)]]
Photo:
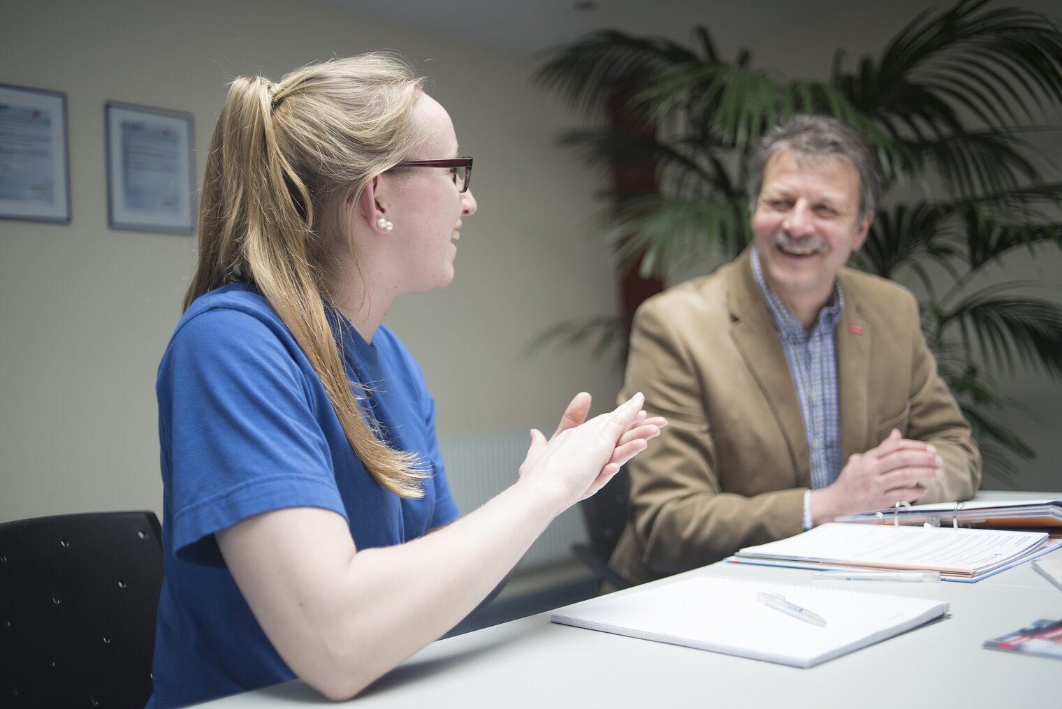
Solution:
[(434, 402), (381, 324), (397, 296), (449, 283), (476, 212), (473, 160), (422, 84), (365, 54), (230, 86), (156, 384), (166, 580), (149, 706), (293, 677), (357, 694), (664, 425), (640, 395), (585, 420), (580, 394), (550, 439), (531, 431), (517, 482), (457, 519)]

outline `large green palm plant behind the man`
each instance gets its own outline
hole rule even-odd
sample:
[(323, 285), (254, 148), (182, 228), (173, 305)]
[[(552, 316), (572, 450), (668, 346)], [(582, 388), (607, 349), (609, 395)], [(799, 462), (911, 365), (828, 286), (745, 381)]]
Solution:
[[(960, 0), (912, 19), (876, 59), (846, 68), (838, 51), (826, 81), (729, 62), (708, 32), (692, 48), (599, 32), (563, 47), (536, 80), (588, 113), (617, 104), (635, 129), (569, 133), (588, 163), (651, 159), (655, 193), (617, 200), (606, 228), (624, 269), (661, 275), (691, 257), (733, 257), (749, 242), (746, 156), (795, 113), (836, 116), (868, 135), (888, 200), (854, 265), (920, 292), (923, 329), (1001, 482), (1013, 456), (1033, 451), (1000, 420), (993, 375), (1025, 365), (1062, 378), (1062, 308), (1030, 281), (986, 283), (1018, 249), (1062, 247), (1062, 184), (1049, 181), (1030, 139), (1062, 108), (1062, 30), (1041, 14)], [(617, 100), (617, 97), (622, 97)], [(648, 128), (648, 129), (647, 129)], [(895, 191), (895, 190), (894, 190)], [(945, 288), (942, 288), (944, 286)], [(629, 317), (569, 321), (536, 342), (626, 342)], [(618, 335), (618, 336), (617, 336)]]

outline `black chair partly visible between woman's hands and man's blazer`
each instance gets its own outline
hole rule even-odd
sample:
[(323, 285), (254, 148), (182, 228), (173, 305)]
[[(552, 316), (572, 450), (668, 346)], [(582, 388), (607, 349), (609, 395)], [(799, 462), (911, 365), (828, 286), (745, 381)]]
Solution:
[(620, 468), (619, 472), (597, 491), (597, 495), (579, 503), (583, 522), (586, 523), (589, 544), (572, 544), (571, 553), (590, 570), (599, 589), (602, 584), (607, 584), (612, 590), (631, 586), (627, 580), (609, 568), (609, 557), (612, 556), (616, 542), (619, 541), (619, 535), (627, 526), (627, 469)]

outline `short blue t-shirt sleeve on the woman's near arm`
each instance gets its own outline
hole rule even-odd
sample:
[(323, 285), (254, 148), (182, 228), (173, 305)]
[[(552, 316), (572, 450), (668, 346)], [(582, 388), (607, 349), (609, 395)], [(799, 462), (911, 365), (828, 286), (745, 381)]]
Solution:
[(272, 509), (346, 517), (305, 373), (275, 328), (239, 310), (208, 310), (181, 327), (164, 358), (159, 414), (169, 440), (165, 430), (161, 437), (184, 560), (221, 565), (213, 533)]

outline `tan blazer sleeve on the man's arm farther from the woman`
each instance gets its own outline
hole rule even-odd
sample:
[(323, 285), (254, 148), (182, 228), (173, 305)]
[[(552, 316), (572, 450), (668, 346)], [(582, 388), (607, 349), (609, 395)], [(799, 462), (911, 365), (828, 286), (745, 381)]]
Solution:
[(937, 360), (919, 326), (917, 305), (912, 323), (914, 351), (905, 436), (932, 444), (944, 460), (944, 477), (927, 485), (927, 491), (919, 502), (966, 500), (980, 485), (981, 455), (970, 425), (937, 371)]

